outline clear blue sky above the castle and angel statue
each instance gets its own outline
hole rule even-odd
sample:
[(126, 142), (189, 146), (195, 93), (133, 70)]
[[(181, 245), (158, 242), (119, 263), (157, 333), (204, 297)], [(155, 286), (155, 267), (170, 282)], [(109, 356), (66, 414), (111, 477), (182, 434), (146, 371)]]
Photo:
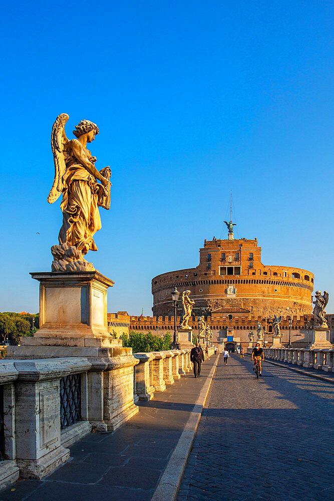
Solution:
[[(48, 204), (50, 133), (86, 118), (112, 169), (99, 251), (108, 311), (150, 315), (151, 279), (198, 264), (222, 232), (267, 265), (333, 282), (333, 5), (256, 2), (9, 2), (2, 7), (0, 311), (36, 312), (62, 223)], [(37, 234), (39, 232), (39, 234)]]

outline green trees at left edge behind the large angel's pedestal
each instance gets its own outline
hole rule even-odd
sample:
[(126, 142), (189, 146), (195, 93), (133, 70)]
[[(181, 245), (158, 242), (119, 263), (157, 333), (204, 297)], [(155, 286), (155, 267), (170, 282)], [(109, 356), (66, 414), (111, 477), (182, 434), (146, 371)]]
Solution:
[[(34, 322), (33, 322), (34, 320)], [(34, 329), (33, 329), (34, 324)], [(0, 313), (0, 341), (18, 344), (21, 336), (33, 336), (40, 327), (40, 314)]]

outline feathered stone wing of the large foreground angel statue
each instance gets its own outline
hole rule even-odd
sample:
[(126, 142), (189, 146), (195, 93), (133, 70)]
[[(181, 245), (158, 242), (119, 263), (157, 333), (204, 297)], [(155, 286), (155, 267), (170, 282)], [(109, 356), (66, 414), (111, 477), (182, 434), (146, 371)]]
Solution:
[(63, 175), (66, 171), (64, 147), (69, 141), (65, 134), (65, 124), (68, 119), (69, 115), (61, 113), (52, 127), (51, 148), (54, 154), (55, 179), (48, 196), (49, 203), (54, 203), (63, 191)]

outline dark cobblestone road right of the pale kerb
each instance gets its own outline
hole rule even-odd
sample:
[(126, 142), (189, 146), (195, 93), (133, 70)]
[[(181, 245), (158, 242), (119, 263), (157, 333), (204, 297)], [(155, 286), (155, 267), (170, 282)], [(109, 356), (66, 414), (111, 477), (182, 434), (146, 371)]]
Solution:
[(177, 501), (334, 500), (334, 385), (220, 355)]

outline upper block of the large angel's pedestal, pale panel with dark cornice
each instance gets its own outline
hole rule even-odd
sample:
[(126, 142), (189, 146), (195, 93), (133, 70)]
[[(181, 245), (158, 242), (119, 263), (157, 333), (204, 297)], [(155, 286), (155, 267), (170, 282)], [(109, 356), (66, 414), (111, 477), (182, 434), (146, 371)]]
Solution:
[(107, 289), (101, 273), (31, 273), (40, 282), (40, 329), (21, 345), (108, 347)]

